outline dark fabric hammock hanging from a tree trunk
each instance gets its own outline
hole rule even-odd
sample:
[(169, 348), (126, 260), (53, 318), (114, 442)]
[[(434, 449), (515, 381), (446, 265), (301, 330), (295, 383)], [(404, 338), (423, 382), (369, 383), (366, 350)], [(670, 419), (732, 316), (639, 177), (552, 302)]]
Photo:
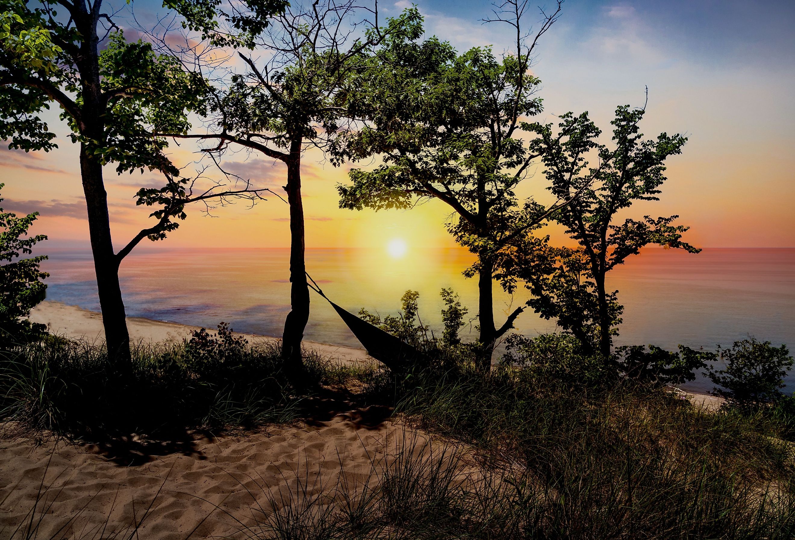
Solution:
[[(312, 276), (309, 276), (308, 273), (306, 276), (309, 280), (312, 280)], [(394, 372), (401, 372), (417, 361), (425, 360), (425, 355), (412, 345), (381, 330), (378, 326), (371, 325), (350, 311), (343, 310), (342, 307), (339, 307), (324, 295), (315, 280), (312, 280), (312, 284), (307, 283), (307, 286), (332, 304), (334, 311), (339, 314), (339, 317), (343, 319), (343, 322), (347, 324), (347, 327), (351, 329), (351, 332), (353, 332), (359, 342), (364, 345), (367, 354), (382, 362), (387, 368)]]

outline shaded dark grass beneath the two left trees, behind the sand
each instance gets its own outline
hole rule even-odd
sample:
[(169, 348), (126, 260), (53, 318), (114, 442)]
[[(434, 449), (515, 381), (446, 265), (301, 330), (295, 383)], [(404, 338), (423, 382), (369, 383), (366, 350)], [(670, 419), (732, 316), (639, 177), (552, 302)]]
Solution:
[[(308, 384), (323, 369), (308, 354)], [(185, 344), (140, 344), (124, 372), (109, 368), (102, 345), (64, 338), (0, 351), (0, 417), (29, 434), (78, 438), (186, 429), (250, 428), (300, 415), (305, 392), (281, 373), (277, 345), (246, 345), (207, 359)]]

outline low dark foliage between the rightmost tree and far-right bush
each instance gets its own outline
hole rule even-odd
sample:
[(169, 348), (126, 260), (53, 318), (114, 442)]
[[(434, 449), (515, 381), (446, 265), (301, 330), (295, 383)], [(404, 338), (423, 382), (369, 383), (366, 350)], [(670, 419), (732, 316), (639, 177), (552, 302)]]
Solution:
[(623, 345), (615, 349), (614, 361), (623, 375), (640, 384), (664, 386), (696, 379), (696, 369), (707, 367), (705, 361), (714, 353), (696, 351), (679, 345), (679, 351), (666, 351), (656, 345)]

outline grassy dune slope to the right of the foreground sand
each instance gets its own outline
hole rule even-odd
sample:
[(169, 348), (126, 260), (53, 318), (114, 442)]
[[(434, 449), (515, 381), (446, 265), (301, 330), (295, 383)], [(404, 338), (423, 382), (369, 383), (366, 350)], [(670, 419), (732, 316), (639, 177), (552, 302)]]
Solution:
[[(565, 335), (539, 340), (538, 357), (567, 346), (580, 345)], [(583, 539), (789, 538), (795, 530), (789, 447), (762, 415), (712, 414), (636, 384), (561, 384), (532, 365), (484, 376), (463, 363), (416, 377), (394, 387), (398, 410), (447, 448), (463, 443), (467, 458), (453, 482), (434, 487), (437, 511), (417, 504), (397, 512), (400, 521), (375, 502), (386, 482), (368, 483), (374, 502), (363, 515), (375, 530)]]

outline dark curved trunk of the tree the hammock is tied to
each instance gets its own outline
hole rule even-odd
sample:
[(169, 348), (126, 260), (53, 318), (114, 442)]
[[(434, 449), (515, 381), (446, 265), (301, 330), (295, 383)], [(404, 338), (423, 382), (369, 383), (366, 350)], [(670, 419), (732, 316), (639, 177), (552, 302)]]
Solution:
[(301, 147), (293, 145), (287, 161), (287, 202), (290, 207), (290, 312), (281, 338), (281, 357), (289, 373), (304, 368), (301, 340), (309, 320), (309, 287), (304, 261), (304, 203), (301, 201)]

